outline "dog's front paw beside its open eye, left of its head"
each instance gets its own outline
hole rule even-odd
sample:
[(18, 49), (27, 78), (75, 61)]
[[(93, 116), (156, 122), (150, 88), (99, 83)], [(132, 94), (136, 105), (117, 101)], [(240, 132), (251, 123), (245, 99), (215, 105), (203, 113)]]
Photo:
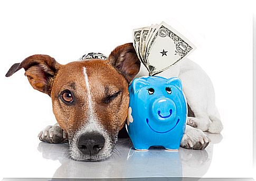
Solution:
[(46, 126), (38, 137), (42, 142), (47, 143), (67, 143), (69, 140), (68, 134), (58, 124)]

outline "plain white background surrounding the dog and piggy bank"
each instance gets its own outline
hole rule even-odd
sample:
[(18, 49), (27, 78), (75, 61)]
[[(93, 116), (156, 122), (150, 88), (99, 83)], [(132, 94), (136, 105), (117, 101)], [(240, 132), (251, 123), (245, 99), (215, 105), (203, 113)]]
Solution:
[[(1, 176), (51, 177), (60, 165), (34, 159), (41, 154), (37, 134), (55, 118), (50, 97), (30, 86), (23, 69), (4, 77), (14, 63), (33, 54), (61, 64), (89, 52), (108, 55), (132, 41), (132, 29), (165, 21), (196, 45), (188, 58), (216, 92), (223, 140), (204, 177), (252, 177), (252, 7), (249, 1), (1, 1)], [(30, 175), (23, 172), (28, 167)]]

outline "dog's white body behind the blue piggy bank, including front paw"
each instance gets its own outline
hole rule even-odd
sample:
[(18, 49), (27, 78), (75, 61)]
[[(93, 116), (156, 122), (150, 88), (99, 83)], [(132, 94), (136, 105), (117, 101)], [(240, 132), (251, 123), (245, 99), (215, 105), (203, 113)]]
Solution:
[[(146, 75), (148, 75), (148, 71), (141, 64), (140, 71), (136, 77)], [(195, 117), (187, 117), (186, 132), (182, 140), (182, 146), (188, 144), (188, 147), (193, 147), (198, 141), (201, 143), (207, 142), (208, 139), (202, 131), (216, 134), (221, 132), (223, 126), (220, 114), (215, 106), (214, 88), (211, 79), (200, 66), (185, 58), (175, 66), (157, 75), (166, 78), (176, 76), (182, 80), (187, 103), (194, 113)]]

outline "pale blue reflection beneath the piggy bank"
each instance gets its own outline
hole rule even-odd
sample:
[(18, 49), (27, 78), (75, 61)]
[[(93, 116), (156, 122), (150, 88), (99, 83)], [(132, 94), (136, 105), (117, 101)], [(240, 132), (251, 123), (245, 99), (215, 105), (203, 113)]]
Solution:
[(180, 154), (181, 152), (170, 153), (155, 148), (150, 152), (138, 152), (130, 149), (123, 175), (124, 177), (176, 177), (175, 181), (183, 180), (181, 178), (183, 170)]

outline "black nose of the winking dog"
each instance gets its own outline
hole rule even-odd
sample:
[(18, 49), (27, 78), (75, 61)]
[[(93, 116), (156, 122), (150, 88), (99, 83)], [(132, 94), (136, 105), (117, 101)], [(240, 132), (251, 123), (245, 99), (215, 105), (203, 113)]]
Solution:
[(78, 138), (78, 148), (86, 155), (95, 155), (105, 145), (105, 138), (99, 133), (84, 133)]

